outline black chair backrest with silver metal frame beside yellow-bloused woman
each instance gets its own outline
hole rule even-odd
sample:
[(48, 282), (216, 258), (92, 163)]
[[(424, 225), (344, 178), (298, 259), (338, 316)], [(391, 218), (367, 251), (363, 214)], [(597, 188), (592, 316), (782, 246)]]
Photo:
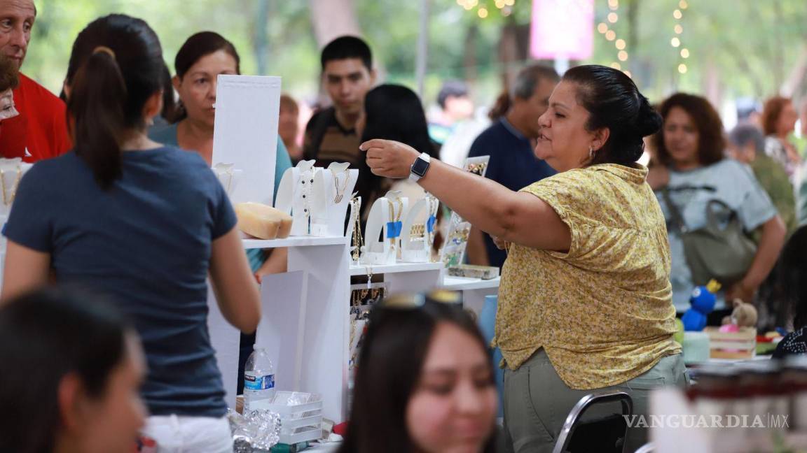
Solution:
[[(593, 405), (620, 402), (621, 414), (612, 414), (581, 422), (587, 409)], [(563, 428), (558, 435), (552, 453), (576, 453), (578, 451), (600, 451), (621, 453), (625, 445), (628, 423), (623, 416), (633, 414), (633, 400), (625, 392), (592, 393), (580, 398), (571, 409)], [(578, 434), (578, 435), (575, 435)], [(594, 448), (594, 450), (592, 450)]]

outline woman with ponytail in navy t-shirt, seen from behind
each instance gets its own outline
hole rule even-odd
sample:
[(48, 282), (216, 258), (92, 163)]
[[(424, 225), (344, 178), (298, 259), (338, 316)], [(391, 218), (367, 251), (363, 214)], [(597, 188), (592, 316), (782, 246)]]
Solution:
[(160, 41), (140, 19), (109, 15), (78, 35), (65, 79), (75, 148), (20, 182), (2, 299), (51, 275), (110, 294), (147, 356), (144, 434), (166, 451), (232, 451), (207, 276), (239, 330), (257, 328), (260, 299), (215, 174), (198, 154), (146, 135), (161, 110), (163, 71)]

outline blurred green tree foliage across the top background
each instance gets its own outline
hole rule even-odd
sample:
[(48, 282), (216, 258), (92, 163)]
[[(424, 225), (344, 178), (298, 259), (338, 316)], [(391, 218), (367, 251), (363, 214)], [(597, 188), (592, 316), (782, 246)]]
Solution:
[[(726, 98), (775, 94), (788, 80), (802, 52), (807, 52), (807, 4), (804, 0), (730, 2), (688, 0), (681, 24), (682, 47), (691, 56), (688, 72), (679, 74), (680, 48), (672, 11), (677, 0), (621, 0), (620, 19), (613, 29), (629, 39), (626, 68), (650, 98), (672, 91), (717, 91)], [(165, 60), (196, 31), (218, 31), (232, 40), (244, 73), (257, 73), (259, 60), (267, 74), (283, 77), (283, 86), (297, 97), (312, 100), (319, 88), (319, 52), (313, 35), (310, 2), (306, 0), (37, 0), (39, 17), (23, 71), (49, 89), (61, 89), (70, 47), (90, 20), (111, 12), (148, 21), (161, 37)], [(442, 80), (474, 74), (475, 94), (491, 102), (500, 89), (499, 43), (508, 24), (529, 24), (532, 2), (516, 0), (505, 17), (493, 0), (479, 0), (489, 15), (464, 10), (455, 0), (432, 0), (429, 14), (429, 65), (424, 98), (437, 94)], [(370, 42), (386, 81), (415, 85), (416, 43), (420, 1), (353, 0), (362, 34)], [(259, 12), (266, 13), (261, 17)], [(635, 8), (630, 28), (627, 12)], [(268, 12), (267, 12), (268, 11)], [(605, 20), (608, 2), (596, 0), (596, 20)], [(474, 38), (470, 39), (473, 35)], [(611, 64), (617, 49), (594, 33), (592, 63)], [(466, 53), (473, 51), (475, 58)], [(468, 68), (467, 65), (473, 67)], [(521, 64), (521, 62), (516, 62)], [(804, 83), (801, 84), (804, 90)]]

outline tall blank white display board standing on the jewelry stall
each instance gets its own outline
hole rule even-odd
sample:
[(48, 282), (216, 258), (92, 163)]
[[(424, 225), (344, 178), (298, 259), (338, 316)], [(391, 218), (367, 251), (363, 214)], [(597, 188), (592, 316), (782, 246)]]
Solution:
[(280, 77), (218, 78), (213, 165), (241, 170), (230, 199), (272, 205), (278, 146)]

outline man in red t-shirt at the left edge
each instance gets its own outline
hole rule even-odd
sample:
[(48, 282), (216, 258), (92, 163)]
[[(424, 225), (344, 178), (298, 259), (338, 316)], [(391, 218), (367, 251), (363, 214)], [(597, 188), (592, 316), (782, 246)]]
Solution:
[[(33, 0), (0, 0), (0, 52), (18, 68), (23, 65), (35, 20)], [(36, 162), (72, 148), (61, 99), (20, 73), (14, 102), (19, 115), (2, 121), (0, 156)]]

